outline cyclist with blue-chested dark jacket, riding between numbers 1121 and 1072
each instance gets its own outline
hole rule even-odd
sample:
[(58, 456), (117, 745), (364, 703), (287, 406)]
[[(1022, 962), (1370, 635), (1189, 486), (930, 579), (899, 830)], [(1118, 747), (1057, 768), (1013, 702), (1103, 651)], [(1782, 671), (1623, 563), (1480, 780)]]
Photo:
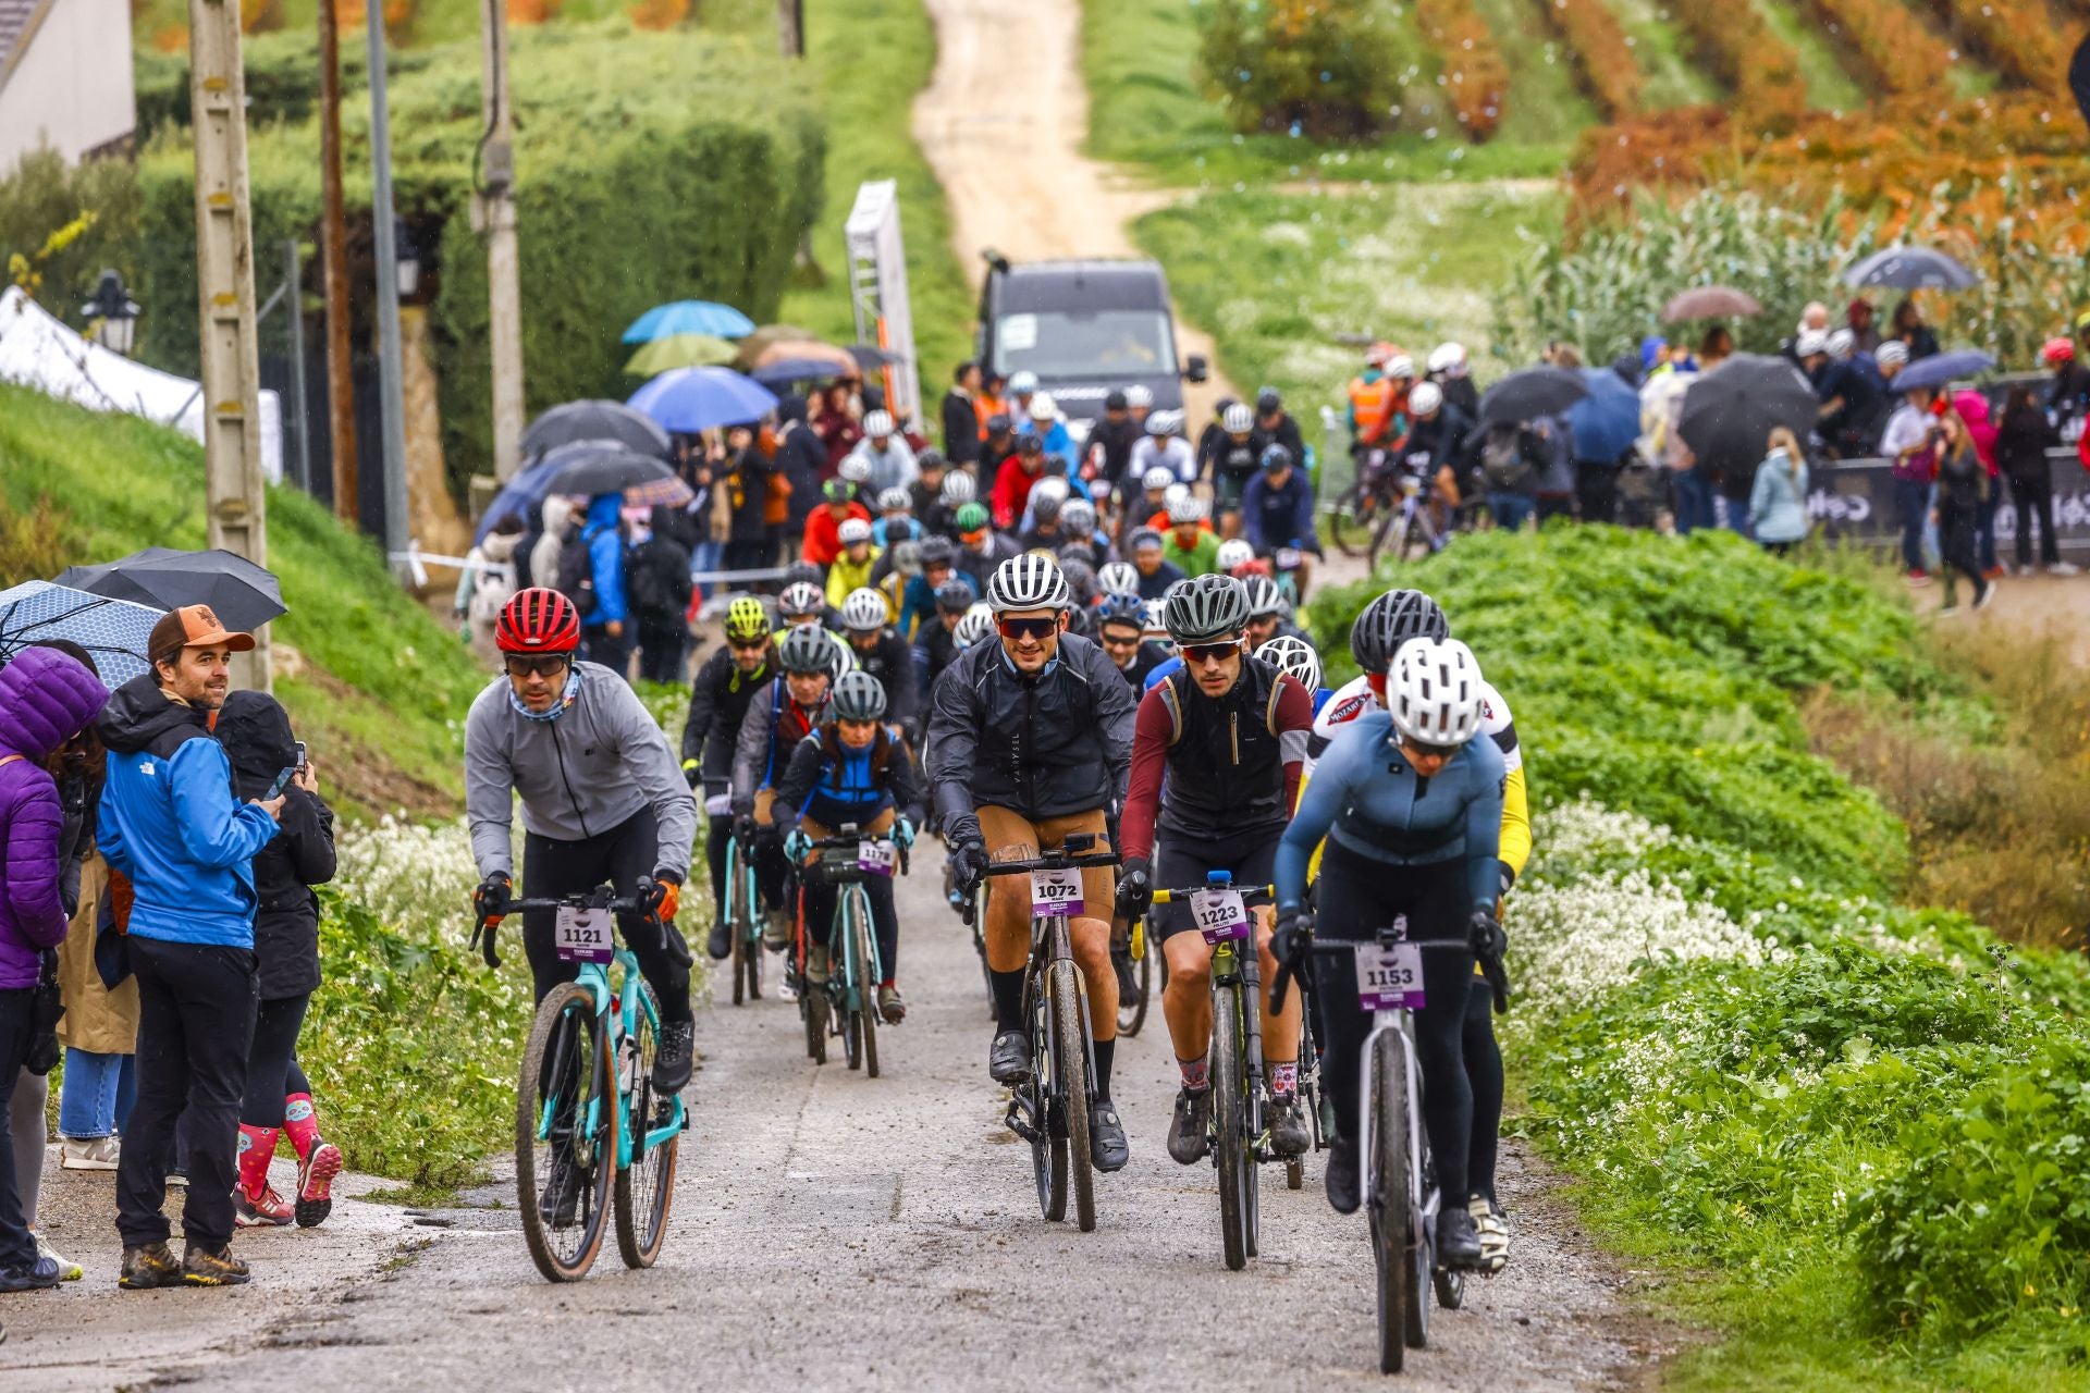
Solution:
[[(792, 750), (769, 804), (784, 831), (786, 856), (809, 860), (813, 852), (805, 842), (832, 837), (844, 823), (855, 823), (867, 837), (890, 831), (901, 846), (913, 846), (922, 823), (922, 781), (907, 758), (907, 746), (886, 731), (884, 714), (886, 689), (878, 679), (869, 672), (842, 672), (834, 683), (832, 714)], [(892, 877), (872, 875), (863, 890), (878, 931), (878, 1015), (899, 1025), (907, 1015), (907, 1000), (897, 982), (901, 927), (892, 908)], [(803, 911), (811, 948), (805, 975), (813, 984), (828, 979), (834, 898), (834, 886), (807, 881)]]

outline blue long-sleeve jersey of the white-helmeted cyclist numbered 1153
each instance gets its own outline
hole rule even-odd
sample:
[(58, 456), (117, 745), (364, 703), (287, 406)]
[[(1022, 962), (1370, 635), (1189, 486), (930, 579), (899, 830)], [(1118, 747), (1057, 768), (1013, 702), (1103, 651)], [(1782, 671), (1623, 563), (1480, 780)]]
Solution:
[(1494, 741), (1469, 739), (1436, 777), (1423, 779), (1400, 754), (1390, 712), (1358, 716), (1321, 754), (1277, 844), (1277, 904), (1298, 908), (1313, 848), (1327, 837), (1396, 867), (1463, 856), (1473, 904), (1492, 911), (1503, 883), (1496, 854), (1505, 777)]

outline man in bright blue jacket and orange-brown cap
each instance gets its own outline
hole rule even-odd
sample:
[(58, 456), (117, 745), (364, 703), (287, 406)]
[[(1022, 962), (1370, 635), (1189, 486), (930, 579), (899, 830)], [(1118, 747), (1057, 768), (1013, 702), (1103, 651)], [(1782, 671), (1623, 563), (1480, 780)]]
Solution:
[[(117, 1163), (117, 1284), (224, 1286), (247, 1280), (232, 1255), (234, 1138), (255, 1025), (253, 856), (276, 835), (282, 796), (240, 804), (209, 718), (226, 700), (232, 654), (255, 645), (209, 606), (153, 624), (153, 670), (117, 687), (100, 718), (109, 748), (96, 842), (130, 877), (125, 936), (138, 975), (138, 1103)], [(188, 1251), (167, 1251), (167, 1163), (186, 1113)]]

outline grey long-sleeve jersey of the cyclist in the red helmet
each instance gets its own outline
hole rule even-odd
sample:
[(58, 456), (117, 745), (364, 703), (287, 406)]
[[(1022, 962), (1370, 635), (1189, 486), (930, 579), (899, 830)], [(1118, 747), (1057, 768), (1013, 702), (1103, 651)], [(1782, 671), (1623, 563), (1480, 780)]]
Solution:
[(464, 810), (481, 875), (514, 875), (510, 825), (522, 798), (522, 829), (579, 842), (621, 827), (640, 808), (660, 819), (654, 865), (690, 875), (696, 800), (652, 712), (617, 672), (577, 664), (579, 689), (556, 721), (531, 721), (493, 679), (464, 718)]

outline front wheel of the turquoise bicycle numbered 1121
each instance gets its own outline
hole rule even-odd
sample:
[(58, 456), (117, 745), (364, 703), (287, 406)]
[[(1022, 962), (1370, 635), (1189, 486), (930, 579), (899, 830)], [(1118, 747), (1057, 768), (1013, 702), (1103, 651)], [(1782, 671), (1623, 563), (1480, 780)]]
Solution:
[(537, 1007), (516, 1080), (516, 1205), (548, 1282), (596, 1266), (617, 1170), (617, 1086), (596, 994), (564, 982)]

